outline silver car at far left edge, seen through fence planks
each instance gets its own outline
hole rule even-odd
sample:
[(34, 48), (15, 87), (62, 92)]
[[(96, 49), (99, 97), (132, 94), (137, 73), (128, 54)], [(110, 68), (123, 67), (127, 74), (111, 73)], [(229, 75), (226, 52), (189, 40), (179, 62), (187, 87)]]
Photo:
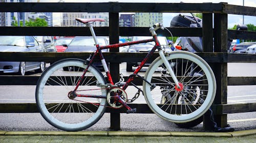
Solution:
[[(44, 47), (39, 45), (33, 36), (0, 36), (0, 51), (42, 52)], [(0, 72), (25, 75), (27, 71), (32, 70), (42, 72), (45, 66), (45, 62), (0, 62)]]

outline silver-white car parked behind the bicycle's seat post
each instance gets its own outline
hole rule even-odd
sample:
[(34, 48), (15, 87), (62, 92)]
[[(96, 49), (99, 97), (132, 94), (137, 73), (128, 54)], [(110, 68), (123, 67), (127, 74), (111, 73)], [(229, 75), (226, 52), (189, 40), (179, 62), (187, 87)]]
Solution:
[[(100, 46), (108, 45), (108, 41), (106, 37), (97, 37), (97, 41)], [(95, 42), (92, 36), (76, 36), (68, 45), (65, 52), (93, 52), (96, 50)], [(109, 52), (109, 49), (103, 49), (102, 52)], [(100, 62), (94, 62), (95, 65), (99, 69), (103, 69), (103, 66)], [(70, 70), (64, 68), (63, 70)]]

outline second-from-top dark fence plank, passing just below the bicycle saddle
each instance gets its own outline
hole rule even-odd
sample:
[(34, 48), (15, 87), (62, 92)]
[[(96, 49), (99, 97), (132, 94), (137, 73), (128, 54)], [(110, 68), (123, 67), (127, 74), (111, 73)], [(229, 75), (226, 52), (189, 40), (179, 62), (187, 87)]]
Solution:
[[(169, 25), (166, 25), (169, 26)], [(97, 36), (109, 36), (109, 27), (93, 27)], [(168, 27), (173, 36), (202, 36), (202, 28)], [(170, 37), (165, 30), (158, 35)], [(0, 35), (5, 36), (92, 36), (88, 27), (12, 27), (0, 26)], [(120, 36), (151, 36), (149, 27), (119, 27)]]

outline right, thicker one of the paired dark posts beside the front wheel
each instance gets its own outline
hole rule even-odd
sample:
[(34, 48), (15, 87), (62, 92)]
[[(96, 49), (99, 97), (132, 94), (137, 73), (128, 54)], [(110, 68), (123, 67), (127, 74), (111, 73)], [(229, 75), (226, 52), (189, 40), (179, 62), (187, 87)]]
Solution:
[[(214, 51), (227, 52), (227, 14), (214, 15)], [(217, 83), (215, 104), (227, 104), (227, 63), (214, 64)], [(227, 115), (215, 116), (218, 127), (227, 126)]]

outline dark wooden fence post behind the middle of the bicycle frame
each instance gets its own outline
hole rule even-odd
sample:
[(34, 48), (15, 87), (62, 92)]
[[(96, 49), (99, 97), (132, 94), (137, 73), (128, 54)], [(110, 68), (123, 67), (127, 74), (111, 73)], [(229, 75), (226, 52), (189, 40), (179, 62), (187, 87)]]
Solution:
[[(110, 44), (119, 43), (119, 13), (109, 13)], [(110, 52), (118, 52), (119, 49), (110, 49)], [(110, 63), (110, 73), (114, 83), (119, 81), (119, 63)], [(110, 129), (120, 130), (120, 113), (110, 113)]]

